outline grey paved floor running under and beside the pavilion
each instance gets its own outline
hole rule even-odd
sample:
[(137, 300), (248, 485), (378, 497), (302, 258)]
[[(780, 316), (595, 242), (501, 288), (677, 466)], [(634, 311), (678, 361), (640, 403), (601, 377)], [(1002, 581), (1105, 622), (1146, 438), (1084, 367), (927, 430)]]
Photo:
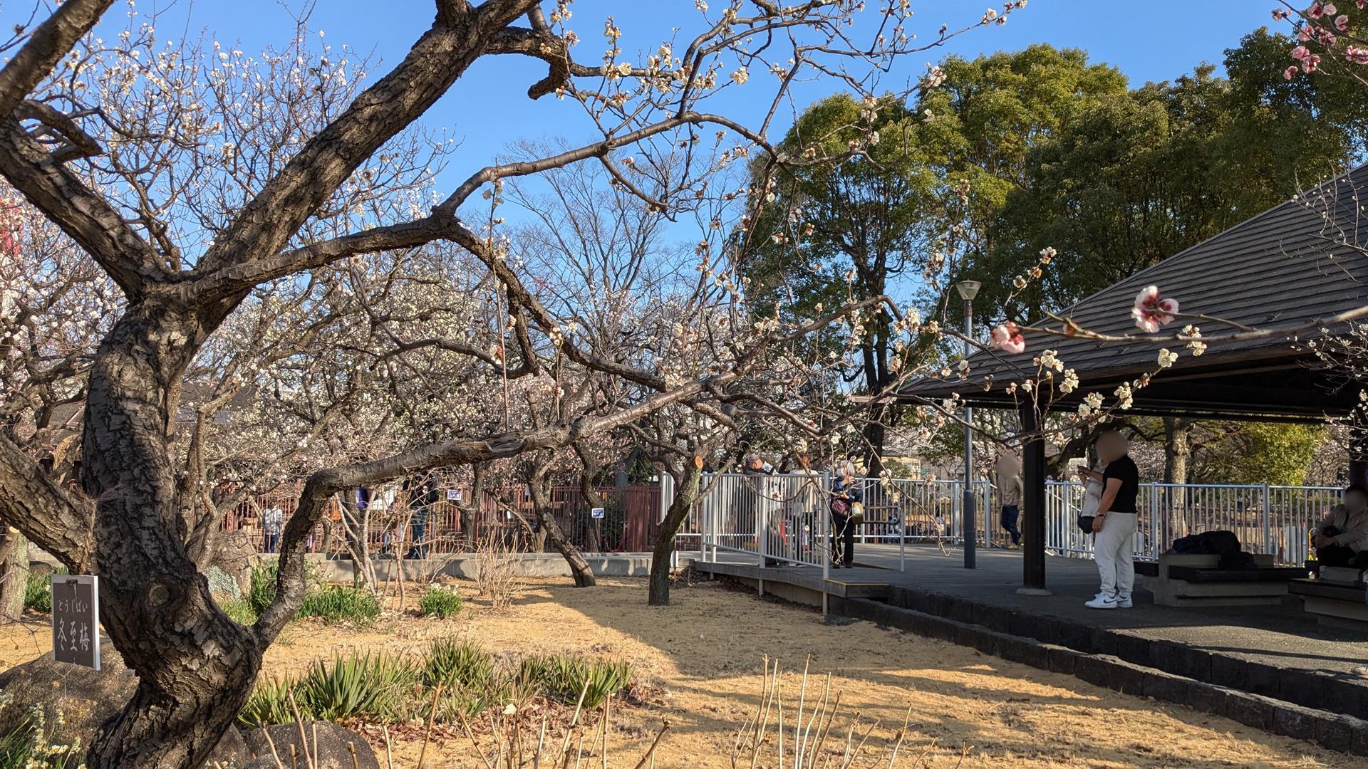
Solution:
[[(1048, 558), (1045, 583), (1052, 595), (1029, 597), (1015, 592), (1022, 584), (1021, 551), (981, 549), (975, 569), (966, 569), (963, 558), (962, 550), (944, 556), (934, 546), (908, 545), (906, 571), (900, 572), (896, 545), (856, 545), (855, 561), (867, 566), (834, 569), (832, 579), (955, 595), (1150, 640), (1185, 643), (1276, 668), (1345, 673), (1357, 665), (1368, 665), (1368, 632), (1323, 627), (1302, 612), (1300, 598), (1289, 597), (1279, 606), (1170, 608), (1156, 606), (1146, 590), (1137, 588), (1134, 609), (1104, 612), (1083, 606), (1083, 601), (1097, 592), (1097, 569), (1090, 560)], [(724, 560), (755, 562), (741, 554), (728, 554)], [(782, 582), (778, 572), (793, 572), (807, 579), (821, 576), (821, 569), (811, 566), (763, 571), (766, 579), (776, 582)]]

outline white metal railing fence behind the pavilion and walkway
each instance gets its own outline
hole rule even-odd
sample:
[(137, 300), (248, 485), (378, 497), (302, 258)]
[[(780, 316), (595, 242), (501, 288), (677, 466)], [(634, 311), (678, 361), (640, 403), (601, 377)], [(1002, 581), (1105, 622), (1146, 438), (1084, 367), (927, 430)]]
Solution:
[[(737, 551), (769, 561), (821, 565), (830, 523), (826, 505), (830, 476), (737, 475), (707, 476), (699, 499), (698, 531), (706, 553)], [(865, 525), (859, 540), (963, 542), (963, 482), (859, 479), (865, 495)], [(1135, 557), (1155, 560), (1174, 539), (1212, 530), (1233, 531), (1245, 550), (1271, 553), (1279, 564), (1306, 560), (1308, 532), (1339, 499), (1339, 488), (1319, 486), (1212, 486), (1142, 483)], [(1088, 557), (1092, 536), (1075, 524), (1083, 486), (1045, 484), (1045, 549), (1060, 556)], [(974, 483), (975, 540), (979, 547), (1010, 542), (999, 525), (1000, 497), (989, 482)], [(1018, 525), (1034, 514), (1021, 510)]]

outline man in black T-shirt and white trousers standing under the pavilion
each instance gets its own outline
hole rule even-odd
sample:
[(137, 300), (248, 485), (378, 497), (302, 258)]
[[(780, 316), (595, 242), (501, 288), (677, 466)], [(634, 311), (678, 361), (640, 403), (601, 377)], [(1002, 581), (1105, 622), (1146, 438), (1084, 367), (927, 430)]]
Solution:
[(1108, 430), (1097, 438), (1097, 456), (1107, 469), (1079, 468), (1085, 478), (1096, 478), (1103, 484), (1103, 498), (1093, 516), (1093, 558), (1101, 576), (1101, 590), (1083, 603), (1089, 609), (1130, 609), (1131, 588), (1135, 584), (1135, 564), (1131, 560), (1140, 495), (1140, 468), (1130, 458), (1126, 436)]

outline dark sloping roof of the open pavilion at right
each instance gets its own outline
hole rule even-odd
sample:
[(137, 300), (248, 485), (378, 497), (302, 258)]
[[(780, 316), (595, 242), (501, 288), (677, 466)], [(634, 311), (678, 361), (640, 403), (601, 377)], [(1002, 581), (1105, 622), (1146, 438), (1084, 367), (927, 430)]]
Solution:
[[(1368, 166), (1114, 283), (1060, 315), (1090, 331), (1135, 334), (1130, 315), (1135, 296), (1145, 286), (1159, 286), (1185, 313), (1285, 331), (1261, 339), (1212, 341), (1201, 357), (1170, 345), (1183, 354), (1172, 369), (1135, 393), (1135, 413), (1339, 416), (1353, 408), (1357, 391), (1332, 391), (1324, 375), (1305, 365), (1312, 356), (1298, 342), (1319, 335), (1304, 330), (1308, 322), (1368, 305), (1368, 255), (1360, 246), (1368, 246)], [(1208, 338), (1234, 331), (1209, 320), (1198, 326)], [(1168, 326), (1161, 335), (1175, 328), (1181, 326)], [(1036, 376), (1034, 356), (1053, 349), (1082, 384), (1071, 397), (1057, 395), (1056, 402), (1077, 402), (1092, 390), (1109, 397), (1116, 384), (1155, 371), (1160, 349), (1153, 341), (1101, 343), (1027, 335), (1026, 342), (1027, 352), (1015, 356), (975, 352), (967, 379), (926, 378), (911, 383), (904, 395), (925, 401), (959, 393), (971, 405), (1012, 406), (1016, 398), (1004, 387)]]

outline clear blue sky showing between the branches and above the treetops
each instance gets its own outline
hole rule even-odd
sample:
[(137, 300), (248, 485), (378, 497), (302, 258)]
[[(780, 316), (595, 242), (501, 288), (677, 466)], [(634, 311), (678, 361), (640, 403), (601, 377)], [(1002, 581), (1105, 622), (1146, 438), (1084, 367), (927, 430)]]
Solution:
[[(714, 5), (721, 4), (714, 1)], [(923, 38), (932, 37), (941, 22), (956, 29), (975, 19), (989, 4), (1000, 7), (988, 0), (914, 1), (914, 31)], [(289, 41), (294, 29), (291, 11), (297, 12), (301, 3), (178, 0), (167, 4), (144, 0), (138, 11), (150, 12), (159, 5), (167, 8), (157, 23), (163, 38), (182, 29), (192, 34), (205, 31), (224, 44), (257, 52), (268, 44)], [(870, 0), (871, 8), (877, 5), (878, 0)], [(431, 0), (317, 0), (311, 27), (324, 30), (326, 40), (335, 48), (346, 44), (363, 53), (373, 52), (380, 60), (380, 66), (372, 68), (378, 75), (402, 59), (412, 41), (431, 23), (432, 7)], [(1030, 0), (1004, 26), (973, 30), (944, 49), (908, 60), (907, 70), (897, 74), (897, 83), (944, 53), (975, 56), (1031, 42), (1083, 48), (1092, 60), (1120, 67), (1133, 85), (1171, 79), (1204, 60), (1219, 64), (1222, 52), (1238, 44), (1242, 34), (1270, 23), (1271, 7), (1264, 0)], [(680, 19), (687, 19), (684, 23), (691, 31), (698, 23), (694, 0), (576, 0), (572, 8), (573, 27), (584, 40), (577, 52), (588, 62), (596, 60), (602, 49), (601, 30), (610, 12), (624, 31), (625, 53), (654, 49)], [(1200, 14), (1194, 12), (1198, 10)], [(12, 23), (22, 4), (7, 3), (4, 11), (0, 16)], [(111, 8), (103, 31), (109, 34), (122, 29), (127, 21), (124, 14), (122, 4)], [(527, 86), (544, 74), (544, 66), (517, 57), (482, 60), (428, 112), (427, 127), (450, 131), (462, 142), (443, 182), (465, 178), (516, 138), (592, 138), (577, 105), (554, 97), (527, 99)], [(746, 90), (729, 90), (732, 94), (711, 103), (711, 111), (744, 112), (750, 107), (743, 101)], [(804, 85), (796, 94), (799, 107), (832, 90), (829, 83)]]

